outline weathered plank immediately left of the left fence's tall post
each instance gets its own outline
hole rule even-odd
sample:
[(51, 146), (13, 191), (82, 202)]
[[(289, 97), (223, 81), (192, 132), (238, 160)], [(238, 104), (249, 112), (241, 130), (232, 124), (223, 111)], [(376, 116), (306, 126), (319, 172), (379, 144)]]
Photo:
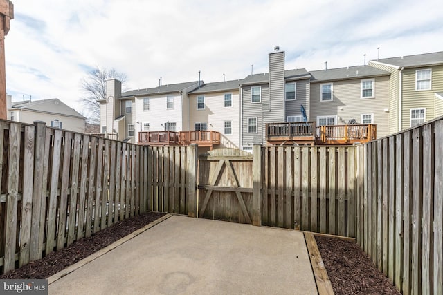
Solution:
[[(3, 129), (0, 129), (3, 132)], [(19, 265), (29, 263), (30, 230), (33, 212), (34, 126), (24, 126), (23, 198), (21, 199), (21, 231)], [(1, 164), (0, 164), (1, 165)], [(0, 171), (1, 173), (1, 171)], [(1, 183), (1, 182), (0, 182)]]

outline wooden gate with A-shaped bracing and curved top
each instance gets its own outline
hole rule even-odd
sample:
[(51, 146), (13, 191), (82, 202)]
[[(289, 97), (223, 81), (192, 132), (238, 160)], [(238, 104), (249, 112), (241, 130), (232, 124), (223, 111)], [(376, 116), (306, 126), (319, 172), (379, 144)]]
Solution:
[(253, 155), (215, 149), (199, 155), (199, 218), (251, 223)]

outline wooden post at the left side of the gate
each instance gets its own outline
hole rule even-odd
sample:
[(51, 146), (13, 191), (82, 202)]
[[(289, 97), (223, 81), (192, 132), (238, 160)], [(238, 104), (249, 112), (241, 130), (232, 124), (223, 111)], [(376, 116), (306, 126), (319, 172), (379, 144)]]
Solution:
[(188, 154), (188, 216), (197, 217), (197, 144), (189, 145)]

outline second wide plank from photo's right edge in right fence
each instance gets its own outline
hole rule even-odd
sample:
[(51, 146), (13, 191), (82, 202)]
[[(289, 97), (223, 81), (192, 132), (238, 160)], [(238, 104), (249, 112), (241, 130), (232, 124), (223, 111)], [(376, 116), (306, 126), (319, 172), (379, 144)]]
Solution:
[[(423, 126), (423, 202), (422, 202), (422, 294), (432, 294), (433, 289), (433, 193), (434, 193), (434, 137), (433, 125)], [(443, 175), (440, 175), (443, 177)], [(443, 249), (442, 249), (443, 250)]]

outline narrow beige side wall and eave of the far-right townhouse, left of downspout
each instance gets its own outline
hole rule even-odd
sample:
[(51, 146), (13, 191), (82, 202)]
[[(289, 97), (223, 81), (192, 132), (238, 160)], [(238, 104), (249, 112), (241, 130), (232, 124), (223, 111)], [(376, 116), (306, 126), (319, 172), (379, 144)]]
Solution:
[(389, 133), (399, 131), (399, 70), (393, 66), (369, 62), (369, 66), (390, 72), (389, 80)]

